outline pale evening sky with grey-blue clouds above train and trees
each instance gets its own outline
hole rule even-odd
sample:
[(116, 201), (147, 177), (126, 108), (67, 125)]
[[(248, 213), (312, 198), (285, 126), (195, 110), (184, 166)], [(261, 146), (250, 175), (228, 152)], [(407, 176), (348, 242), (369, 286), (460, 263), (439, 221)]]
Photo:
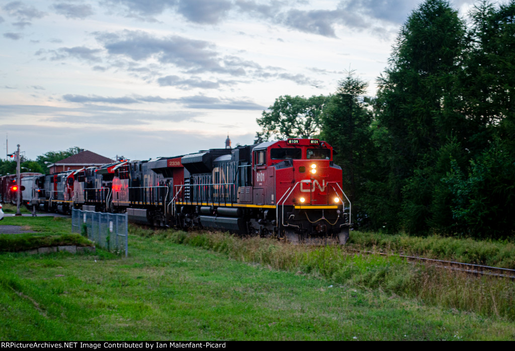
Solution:
[[(132, 160), (251, 144), (280, 95), (387, 64), (407, 0), (0, 0), (0, 138)], [(472, 0), (452, 2), (465, 15)], [(2, 156), (4, 158), (5, 156)]]

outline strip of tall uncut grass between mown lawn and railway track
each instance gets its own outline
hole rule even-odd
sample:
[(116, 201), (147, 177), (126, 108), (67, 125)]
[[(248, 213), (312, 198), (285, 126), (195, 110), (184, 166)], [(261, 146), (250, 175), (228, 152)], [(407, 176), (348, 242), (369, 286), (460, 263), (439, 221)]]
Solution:
[(129, 232), (210, 249), (271, 269), (325, 277), (333, 284), (381, 289), (431, 305), (515, 320), (515, 283), (509, 279), (478, 278), (434, 266), (412, 265), (395, 256), (350, 254), (337, 246), (314, 248), (274, 239), (208, 232), (152, 232), (136, 227)]

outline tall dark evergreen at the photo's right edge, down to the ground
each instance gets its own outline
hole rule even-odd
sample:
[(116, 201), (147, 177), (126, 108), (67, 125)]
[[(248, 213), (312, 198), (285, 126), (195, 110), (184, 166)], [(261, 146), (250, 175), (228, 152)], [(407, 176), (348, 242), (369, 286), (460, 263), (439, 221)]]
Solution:
[(470, 163), (453, 160), (442, 182), (451, 196), (452, 230), (510, 237), (515, 224), (515, 1), (481, 2), (471, 12), (460, 76)]

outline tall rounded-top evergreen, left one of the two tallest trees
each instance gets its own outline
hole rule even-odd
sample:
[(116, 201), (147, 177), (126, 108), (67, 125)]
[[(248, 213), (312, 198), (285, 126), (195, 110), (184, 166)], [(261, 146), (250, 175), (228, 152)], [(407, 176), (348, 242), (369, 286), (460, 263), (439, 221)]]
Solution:
[(466, 138), (456, 90), (464, 47), (465, 25), (457, 11), (446, 1), (427, 0), (403, 25), (379, 79), (376, 111), (386, 130), (381, 144), (388, 152), (383, 156), (388, 176), (376, 201), (390, 206), (383, 221), (391, 230), (398, 224), (408, 231), (426, 230), (436, 215), (428, 209), (435, 184), (427, 183), (423, 169), (435, 164), (435, 151), (450, 138), (458, 143)]

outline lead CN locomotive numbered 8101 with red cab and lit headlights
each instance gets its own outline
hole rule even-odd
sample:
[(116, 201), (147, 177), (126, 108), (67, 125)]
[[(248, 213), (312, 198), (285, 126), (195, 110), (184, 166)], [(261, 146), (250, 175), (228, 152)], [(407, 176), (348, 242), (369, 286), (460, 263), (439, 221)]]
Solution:
[(351, 205), (332, 153), (318, 139), (288, 139), (185, 155), (176, 224), (345, 243)]

